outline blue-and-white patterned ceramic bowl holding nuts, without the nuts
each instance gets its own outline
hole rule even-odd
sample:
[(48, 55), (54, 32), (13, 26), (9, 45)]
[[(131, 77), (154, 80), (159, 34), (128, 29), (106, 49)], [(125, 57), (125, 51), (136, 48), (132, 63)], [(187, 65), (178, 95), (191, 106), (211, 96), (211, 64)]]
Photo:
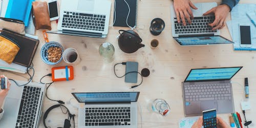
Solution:
[(57, 61), (57, 62), (51, 62), (48, 60), (48, 53), (47, 53), (47, 50), (51, 47), (58, 47), (58, 48), (61, 48), (61, 51), (63, 53), (64, 49), (63, 47), (58, 43), (58, 42), (54, 42), (54, 41), (51, 41), (51, 42), (48, 42), (46, 43), (44, 46), (42, 46), (41, 48), (41, 59), (42, 61), (44, 61), (46, 64), (48, 65), (56, 65), (57, 63), (59, 63), (61, 60), (62, 60), (62, 54), (61, 54), (61, 57), (60, 59)]

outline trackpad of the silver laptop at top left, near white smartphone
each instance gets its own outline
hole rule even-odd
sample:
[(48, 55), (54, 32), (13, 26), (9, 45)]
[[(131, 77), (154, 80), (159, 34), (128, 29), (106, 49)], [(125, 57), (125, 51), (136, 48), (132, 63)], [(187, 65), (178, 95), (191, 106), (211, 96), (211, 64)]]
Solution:
[(94, 0), (79, 0), (77, 10), (93, 12)]

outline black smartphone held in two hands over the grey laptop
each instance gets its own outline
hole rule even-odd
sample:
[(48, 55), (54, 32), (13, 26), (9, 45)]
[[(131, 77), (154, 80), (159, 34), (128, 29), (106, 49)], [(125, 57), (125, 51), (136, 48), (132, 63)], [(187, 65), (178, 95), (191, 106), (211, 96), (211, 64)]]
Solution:
[(216, 109), (203, 111), (204, 128), (217, 128)]

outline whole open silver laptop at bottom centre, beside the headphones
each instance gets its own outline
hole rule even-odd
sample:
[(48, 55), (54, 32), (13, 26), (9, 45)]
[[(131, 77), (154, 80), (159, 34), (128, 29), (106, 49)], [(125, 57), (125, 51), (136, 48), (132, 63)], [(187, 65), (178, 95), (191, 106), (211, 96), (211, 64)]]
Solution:
[(72, 94), (81, 103), (78, 127), (137, 127), (139, 92)]

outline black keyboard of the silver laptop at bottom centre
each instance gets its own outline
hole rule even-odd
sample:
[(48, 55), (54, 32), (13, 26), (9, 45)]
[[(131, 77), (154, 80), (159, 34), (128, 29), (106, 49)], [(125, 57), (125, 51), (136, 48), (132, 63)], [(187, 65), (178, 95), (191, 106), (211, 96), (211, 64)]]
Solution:
[(86, 108), (85, 125), (131, 125), (131, 108)]

